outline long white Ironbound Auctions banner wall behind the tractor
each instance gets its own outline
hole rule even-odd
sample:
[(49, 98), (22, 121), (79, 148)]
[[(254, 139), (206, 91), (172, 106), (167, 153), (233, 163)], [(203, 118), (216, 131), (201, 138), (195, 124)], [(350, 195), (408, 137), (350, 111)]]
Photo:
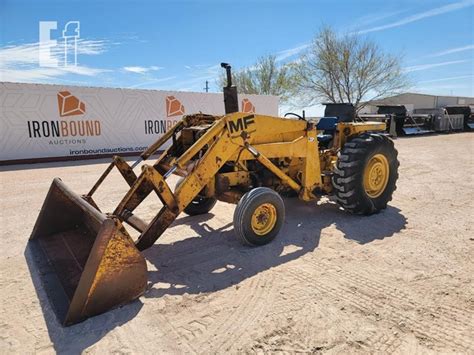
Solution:
[[(278, 97), (239, 95), (278, 115)], [(0, 162), (139, 153), (185, 114), (224, 114), (222, 94), (0, 83)]]

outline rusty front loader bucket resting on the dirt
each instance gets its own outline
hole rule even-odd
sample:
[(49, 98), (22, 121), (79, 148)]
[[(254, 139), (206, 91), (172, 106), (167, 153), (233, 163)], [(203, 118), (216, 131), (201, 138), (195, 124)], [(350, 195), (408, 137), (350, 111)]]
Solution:
[(138, 298), (146, 262), (120, 221), (54, 179), (30, 237), (32, 263), (59, 321), (71, 325)]

